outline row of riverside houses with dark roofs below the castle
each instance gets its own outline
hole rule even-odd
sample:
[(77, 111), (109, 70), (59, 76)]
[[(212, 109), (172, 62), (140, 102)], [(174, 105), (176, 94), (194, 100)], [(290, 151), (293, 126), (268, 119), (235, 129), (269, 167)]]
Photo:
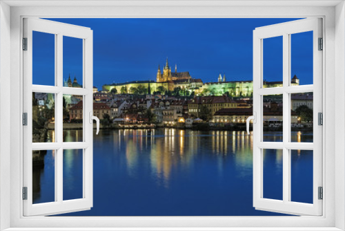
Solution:
[[(306, 105), (313, 109), (312, 94), (291, 95), (292, 122), (297, 122), (294, 111), (297, 107)], [(199, 118), (202, 108), (208, 109), (212, 115), (210, 122), (245, 122), (248, 116), (253, 114), (253, 100), (233, 100), (227, 95), (197, 96), (191, 100), (183, 98), (152, 97), (133, 99), (132, 95), (116, 95), (115, 98), (107, 93), (95, 93), (94, 115), (103, 119), (105, 114), (111, 120), (124, 118), (131, 122), (146, 122), (147, 110), (155, 114), (155, 122), (160, 124), (175, 124), (187, 118)], [(79, 101), (70, 107), (70, 120), (81, 119), (83, 103)], [(282, 102), (279, 98), (264, 100), (264, 113), (266, 120), (282, 121)], [(183, 118), (183, 119), (181, 119)], [(122, 120), (117, 120), (122, 121)]]

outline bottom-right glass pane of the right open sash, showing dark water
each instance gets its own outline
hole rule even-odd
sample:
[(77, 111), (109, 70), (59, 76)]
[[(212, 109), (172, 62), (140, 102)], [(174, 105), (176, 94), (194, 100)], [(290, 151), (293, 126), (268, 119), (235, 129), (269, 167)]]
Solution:
[(291, 150), (291, 201), (313, 203), (312, 150)]

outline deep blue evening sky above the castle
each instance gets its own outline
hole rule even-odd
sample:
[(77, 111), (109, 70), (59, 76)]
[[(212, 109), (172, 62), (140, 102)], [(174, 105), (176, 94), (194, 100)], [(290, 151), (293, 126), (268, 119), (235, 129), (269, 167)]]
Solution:
[[(163, 68), (166, 57), (172, 71), (177, 64), (177, 71), (189, 71), (203, 82), (217, 81), (219, 73), (228, 81), (253, 80), (253, 30), (295, 19), (50, 20), (93, 30), (94, 85), (101, 89), (112, 82), (155, 80), (158, 64)], [(311, 36), (302, 33), (292, 39), (292, 75), (301, 84), (313, 83)], [(63, 77), (76, 75), (82, 84), (78, 40), (63, 40)], [(34, 84), (52, 83), (48, 76), (54, 74), (53, 47), (53, 36), (34, 35)], [(282, 81), (282, 39), (264, 41), (264, 79)]]

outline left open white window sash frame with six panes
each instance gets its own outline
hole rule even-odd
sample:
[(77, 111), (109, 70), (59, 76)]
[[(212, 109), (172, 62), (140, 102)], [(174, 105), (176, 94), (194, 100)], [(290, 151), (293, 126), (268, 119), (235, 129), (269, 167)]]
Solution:
[[(50, 33), (55, 37), (55, 85), (32, 84), (32, 32)], [(63, 86), (63, 37), (74, 37), (82, 41), (83, 88)], [(23, 127), (23, 187), (27, 187), (27, 199), (23, 201), (24, 216), (61, 214), (62, 211), (90, 210), (92, 207), (92, 30), (83, 26), (72, 26), (45, 19), (23, 19), (23, 37), (27, 38), (27, 50), (23, 51), (23, 112), (28, 113), (28, 125)], [(55, 142), (32, 142), (32, 92), (55, 95)], [(63, 142), (63, 94), (83, 97), (83, 141)], [(81, 149), (83, 152), (82, 198), (63, 200), (63, 151)], [(32, 202), (32, 151), (55, 150), (55, 201)]]

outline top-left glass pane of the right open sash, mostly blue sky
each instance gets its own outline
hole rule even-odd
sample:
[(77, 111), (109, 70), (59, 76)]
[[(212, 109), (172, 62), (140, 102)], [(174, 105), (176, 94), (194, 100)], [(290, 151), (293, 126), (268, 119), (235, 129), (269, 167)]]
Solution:
[(263, 39), (263, 86), (283, 86), (283, 37)]

